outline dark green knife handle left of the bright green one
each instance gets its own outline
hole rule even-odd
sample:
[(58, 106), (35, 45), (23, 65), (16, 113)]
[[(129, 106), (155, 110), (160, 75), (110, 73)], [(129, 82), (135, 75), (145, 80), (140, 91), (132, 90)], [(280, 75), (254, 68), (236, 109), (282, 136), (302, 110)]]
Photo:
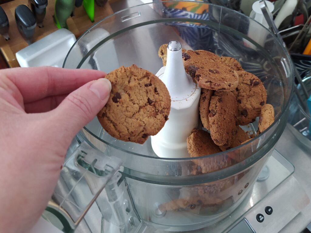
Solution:
[(75, 6), (75, 0), (56, 0), (55, 1), (55, 12), (54, 12), (54, 23), (60, 28), (68, 29), (67, 19), (71, 15)]

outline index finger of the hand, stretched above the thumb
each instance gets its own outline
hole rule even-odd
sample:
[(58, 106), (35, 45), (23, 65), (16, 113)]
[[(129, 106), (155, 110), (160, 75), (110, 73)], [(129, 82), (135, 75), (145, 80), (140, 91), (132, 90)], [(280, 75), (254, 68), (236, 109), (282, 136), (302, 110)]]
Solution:
[(106, 74), (87, 69), (63, 69), (50, 66), (12, 68), (1, 71), (21, 92), (24, 103), (53, 95), (69, 94), (82, 85)]

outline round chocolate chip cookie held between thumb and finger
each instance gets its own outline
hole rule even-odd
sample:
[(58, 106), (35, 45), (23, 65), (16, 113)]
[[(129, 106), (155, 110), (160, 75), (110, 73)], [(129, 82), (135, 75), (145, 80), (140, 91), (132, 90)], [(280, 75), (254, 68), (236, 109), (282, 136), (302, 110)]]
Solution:
[(116, 139), (143, 144), (168, 120), (171, 98), (165, 84), (151, 72), (132, 65), (111, 71), (108, 102), (97, 114), (104, 130)]

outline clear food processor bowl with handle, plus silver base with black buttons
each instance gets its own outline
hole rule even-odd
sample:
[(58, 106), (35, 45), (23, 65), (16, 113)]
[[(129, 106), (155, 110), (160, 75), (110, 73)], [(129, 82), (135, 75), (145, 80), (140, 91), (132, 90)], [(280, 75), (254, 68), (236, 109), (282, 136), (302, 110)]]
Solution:
[[(117, 140), (95, 117), (72, 141), (43, 213), (62, 231), (278, 232), (309, 203), (291, 176), (295, 168), (274, 150), (292, 95), (288, 53), (271, 32), (237, 11), (185, 2), (201, 9), (196, 13), (176, 8), (179, 3), (143, 4), (103, 19), (77, 39), (63, 67), (108, 73), (136, 64), (156, 74), (162, 67), (158, 48), (178, 41), (184, 49), (234, 57), (245, 71), (258, 76), (267, 90), (267, 103), (274, 107), (274, 123), (255, 136), (257, 118), (243, 126), (254, 136), (251, 140), (221, 153), (160, 158), (150, 137), (144, 144)], [(249, 28), (266, 30), (265, 43), (249, 34)], [(267, 194), (280, 185), (295, 194), (274, 195), (265, 203)], [(280, 215), (282, 221), (275, 224)]]

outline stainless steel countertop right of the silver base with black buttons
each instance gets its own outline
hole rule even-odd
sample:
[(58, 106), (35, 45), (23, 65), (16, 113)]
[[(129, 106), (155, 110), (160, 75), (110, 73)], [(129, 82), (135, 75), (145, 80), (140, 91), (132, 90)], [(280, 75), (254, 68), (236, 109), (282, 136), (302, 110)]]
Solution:
[[(292, 142), (292, 143), (288, 143)], [(293, 176), (299, 181), (311, 199), (311, 141), (287, 124), (276, 149), (295, 166)], [(295, 192), (295, 190), (293, 190)], [(303, 231), (311, 222), (311, 202), (280, 232)]]

